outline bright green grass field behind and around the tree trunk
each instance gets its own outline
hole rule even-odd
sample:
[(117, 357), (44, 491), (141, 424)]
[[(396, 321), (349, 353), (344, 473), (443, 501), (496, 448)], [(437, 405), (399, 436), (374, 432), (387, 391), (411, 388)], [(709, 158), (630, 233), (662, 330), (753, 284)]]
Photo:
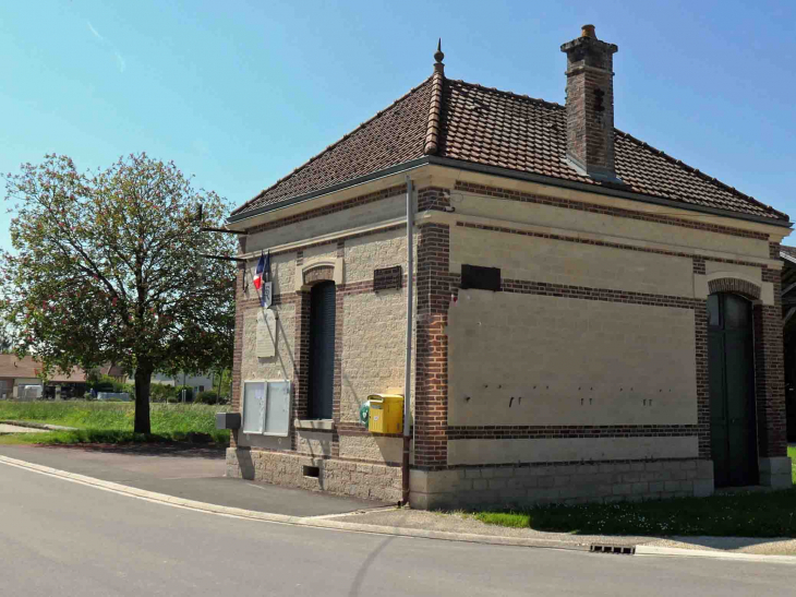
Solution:
[(0, 435), (9, 443), (123, 443), (213, 441), (229, 443), (229, 431), (216, 430), (215, 414), (226, 406), (204, 404), (152, 404), (152, 433), (133, 433), (132, 403), (0, 402), (0, 420), (35, 421), (75, 427), (76, 431), (51, 431)]

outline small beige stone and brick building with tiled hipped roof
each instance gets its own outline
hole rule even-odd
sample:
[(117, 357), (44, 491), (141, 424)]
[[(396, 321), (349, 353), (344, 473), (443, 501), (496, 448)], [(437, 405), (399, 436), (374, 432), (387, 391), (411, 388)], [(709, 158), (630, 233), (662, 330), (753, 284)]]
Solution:
[(615, 129), (617, 47), (593, 26), (560, 49), (566, 106), (448, 79), (438, 48), (427, 80), (231, 214), (229, 475), (400, 499), (401, 437), (359, 410), (403, 387), (409, 178), (414, 506), (791, 486), (788, 217)]

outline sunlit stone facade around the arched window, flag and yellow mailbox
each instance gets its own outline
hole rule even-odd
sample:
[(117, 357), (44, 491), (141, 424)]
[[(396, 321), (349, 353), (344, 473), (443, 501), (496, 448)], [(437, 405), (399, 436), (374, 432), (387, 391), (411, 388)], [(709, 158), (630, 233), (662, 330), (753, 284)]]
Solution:
[[(369, 222), (377, 222), (391, 215), (393, 208), (391, 199), (374, 195), (364, 203), (353, 200), (347, 212), (363, 211), (367, 213)], [(324, 218), (334, 219), (337, 223), (334, 226), (346, 222), (345, 217), (339, 218), (339, 210), (330, 210), (316, 218), (298, 218), (285, 229), (266, 227), (253, 232), (248, 238), (246, 249), (262, 247), (267, 250), (274, 239), (294, 241), (303, 238), (310, 220)], [(277, 229), (281, 236), (274, 236)], [(255, 355), (256, 318), (261, 306), (252, 279), (258, 258), (258, 251), (252, 251), (244, 268), (245, 282), (239, 277), (236, 351), (239, 381), (236, 392), (240, 394), (246, 380), (291, 381), (291, 429), (287, 438), (237, 433), (233, 445), (313, 457), (399, 463), (401, 439), (363, 433), (359, 409), (370, 394), (403, 392), (406, 228), (391, 226), (370, 232), (358, 231), (350, 237), (343, 234), (328, 242), (293, 244), (290, 250), (277, 248), (272, 254), (277, 355), (272, 358)], [(395, 266), (401, 270), (399, 287), (376, 289), (374, 271)], [(314, 283), (325, 279), (335, 280), (337, 289), (334, 421), (319, 430), (294, 428), (293, 420), (303, 419), (307, 408), (309, 292)], [(239, 396), (234, 406), (240, 408)]]

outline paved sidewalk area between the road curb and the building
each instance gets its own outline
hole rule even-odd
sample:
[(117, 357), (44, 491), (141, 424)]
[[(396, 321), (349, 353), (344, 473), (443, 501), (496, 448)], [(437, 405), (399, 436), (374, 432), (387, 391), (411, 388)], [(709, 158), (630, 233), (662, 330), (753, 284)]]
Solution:
[[(796, 556), (794, 539), (543, 533), (530, 528), (487, 525), (460, 513), (397, 509), (378, 502), (230, 479), (224, 477), (225, 451), (217, 447), (158, 444), (0, 445), (0, 456), (99, 479), (101, 482), (213, 504), (217, 508), (205, 510), (219, 513), (225, 513), (225, 509), (240, 509), (240, 512), (251, 512), (252, 517), (274, 522), (323, 523), (329, 528), (558, 549), (589, 550), (596, 545), (635, 547), (637, 553), (649, 554), (682, 556), (688, 550), (694, 556)], [(667, 551), (672, 548), (674, 551)], [(793, 560), (796, 562), (796, 559)]]

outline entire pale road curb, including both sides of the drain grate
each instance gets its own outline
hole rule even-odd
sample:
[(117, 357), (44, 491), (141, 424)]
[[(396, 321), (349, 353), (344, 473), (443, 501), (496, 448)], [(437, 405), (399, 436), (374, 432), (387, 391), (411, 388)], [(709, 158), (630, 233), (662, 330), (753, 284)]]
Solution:
[[(178, 508), (186, 508), (198, 512), (212, 514), (221, 514), (225, 516), (234, 516), (237, 518), (246, 518), (267, 523), (287, 524), (293, 526), (304, 526), (313, 528), (329, 528), (335, 530), (346, 530), (349, 533), (369, 533), (373, 535), (391, 535), (396, 537), (411, 537), (422, 539), (435, 539), (443, 541), (460, 541), (482, 545), (512, 546), (512, 547), (530, 547), (544, 549), (564, 549), (570, 551), (589, 551), (590, 544), (577, 541), (560, 541), (556, 539), (530, 539), (523, 537), (500, 537), (494, 535), (477, 535), (470, 533), (448, 533), (444, 530), (424, 530), (420, 528), (406, 528), (396, 526), (381, 526), (362, 523), (347, 523), (342, 521), (331, 521), (327, 518), (289, 516), (286, 514), (272, 514), (268, 512), (256, 512), (253, 510), (244, 510), (241, 508), (230, 508), (225, 505), (210, 504), (207, 502), (198, 502), (184, 498), (177, 498), (166, 493), (138, 489), (112, 481), (105, 481), (95, 477), (87, 477), (76, 473), (69, 473), (49, 466), (43, 466), (17, 458), (0, 455), (0, 463), (25, 468), (35, 473), (60, 477), (82, 485), (93, 486), (106, 491), (113, 491), (132, 498), (138, 498), (152, 502), (165, 503)], [(793, 556), (761, 556), (757, 553), (736, 553), (727, 551), (713, 551), (703, 549), (680, 549), (668, 547), (652, 547), (646, 545), (636, 546), (636, 556), (659, 556), (659, 557), (678, 557), (678, 558), (714, 558), (748, 562), (768, 562), (768, 563), (785, 563), (796, 564), (796, 557)]]

